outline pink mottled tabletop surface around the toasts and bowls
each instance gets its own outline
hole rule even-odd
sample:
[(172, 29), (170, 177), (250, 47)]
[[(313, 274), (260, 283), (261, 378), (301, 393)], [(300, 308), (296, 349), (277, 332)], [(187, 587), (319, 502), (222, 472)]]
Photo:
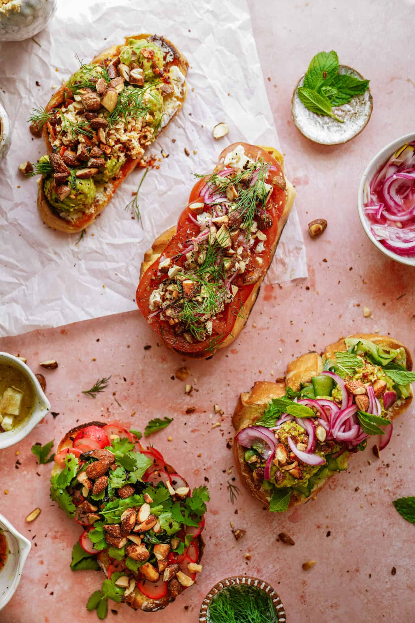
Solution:
[[(289, 515), (269, 515), (243, 490), (235, 506), (230, 504), (226, 480), (235, 469), (226, 473), (233, 466), (226, 441), (232, 435), (230, 419), (238, 393), (255, 380), (283, 374), (292, 356), (322, 350), (340, 335), (376, 328), (390, 331), (414, 350), (413, 269), (387, 260), (370, 244), (356, 207), (366, 163), (381, 146), (413, 129), (415, 77), (408, 68), (415, 58), (413, 46), (405, 42), (413, 39), (414, 5), (400, 0), (400, 10), (394, 11), (386, 0), (376, 7), (369, 0), (251, 0), (250, 5), (271, 107), (297, 188), (310, 277), (282, 289), (263, 287), (234, 345), (210, 361), (187, 364), (188, 382), (194, 386), (190, 396), (184, 383), (170, 379), (182, 359), (157, 345), (138, 312), (0, 341), (0, 350), (23, 354), (36, 372), (42, 359), (59, 362), (56, 371), (45, 373), (52, 411), (59, 415), (47, 416), (21, 444), (0, 453), (0, 510), (33, 545), (21, 584), (1, 612), (3, 623), (96, 621), (85, 604), (102, 578), (92, 571), (70, 571), (70, 550), (80, 527), (50, 502), (50, 466), (36, 466), (30, 445), (53, 437), (58, 442), (77, 422), (116, 417), (143, 429), (148, 419), (164, 415), (174, 416), (174, 422), (150, 441), (190, 485), (208, 478), (212, 502), (203, 573), (192, 589), (156, 615), (157, 621), (196, 623), (208, 589), (227, 575), (241, 573), (274, 586), (290, 623), (413, 621), (414, 528), (391, 504), (415, 492), (413, 409), (396, 422), (381, 459), (370, 449), (358, 454), (347, 474), (333, 478), (316, 501)], [(290, 115), (292, 88), (322, 47), (336, 49), (340, 62), (371, 78), (374, 100), (366, 130), (351, 143), (333, 148), (302, 138)], [(317, 217), (325, 217), (329, 226), (320, 239), (310, 240), (307, 223)], [(371, 308), (373, 319), (363, 318), (363, 305)], [(151, 349), (144, 350), (145, 345)], [(111, 385), (96, 400), (81, 393), (109, 374)], [(225, 415), (221, 427), (212, 430), (218, 419), (215, 403)], [(196, 409), (186, 414), (190, 406)], [(172, 442), (167, 442), (169, 435)], [(237, 475), (236, 484), (240, 485)], [(9, 495), (4, 495), (6, 488)], [(42, 513), (29, 526), (24, 518), (35, 506)], [(238, 543), (230, 521), (246, 530)], [(280, 531), (291, 535), (296, 545), (277, 543)], [(246, 552), (252, 556), (249, 562)], [(301, 564), (307, 559), (317, 562), (304, 572)], [(119, 615), (110, 612), (109, 622), (150, 617), (112, 605)]]

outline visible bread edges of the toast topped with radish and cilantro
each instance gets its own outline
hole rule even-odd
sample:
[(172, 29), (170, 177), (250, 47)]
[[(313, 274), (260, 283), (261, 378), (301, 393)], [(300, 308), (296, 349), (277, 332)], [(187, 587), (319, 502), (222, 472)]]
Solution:
[[(86, 426), (99, 426), (100, 428), (103, 428), (104, 426), (106, 426), (106, 422), (86, 422), (86, 424), (81, 424), (80, 426), (76, 426), (75, 428), (68, 430), (67, 434), (65, 435), (65, 437), (63, 437), (62, 441), (58, 445), (57, 454), (61, 450), (65, 450), (65, 448), (72, 448), (73, 440), (77, 436), (78, 432), (80, 432), (80, 430), (82, 430)], [(177, 471), (174, 469), (174, 467), (167, 463), (165, 465), (165, 468), (167, 473), (177, 474)], [(59, 465), (55, 464), (54, 468), (52, 469), (52, 476), (55, 475), (55, 473), (59, 473), (61, 471), (62, 468), (59, 467)], [(203, 541), (201, 535), (197, 537), (197, 546), (199, 551), (197, 563), (200, 564), (200, 560), (203, 556), (203, 549), (205, 549), (205, 541)], [(108, 556), (108, 550), (103, 549), (102, 551), (100, 551), (100, 553), (98, 553), (97, 560), (103, 571), (103, 574), (107, 578), (108, 568), (111, 564), (111, 560)], [(161, 599), (151, 599), (144, 595), (144, 593), (140, 591), (139, 587), (136, 586), (134, 588), (134, 591), (131, 592), (127, 597), (122, 597), (121, 601), (124, 604), (127, 604), (129, 607), (133, 608), (133, 610), (156, 612), (157, 610), (162, 610), (170, 603), (174, 602), (175, 597), (170, 597), (169, 594), (167, 594), (166, 597), (162, 597)]]

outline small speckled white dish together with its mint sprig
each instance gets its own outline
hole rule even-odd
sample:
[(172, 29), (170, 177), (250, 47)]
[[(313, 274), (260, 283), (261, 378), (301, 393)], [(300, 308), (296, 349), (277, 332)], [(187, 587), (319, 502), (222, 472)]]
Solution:
[(341, 145), (366, 127), (373, 109), (369, 80), (348, 65), (339, 65), (334, 50), (319, 52), (291, 99), (294, 125), (320, 145)]

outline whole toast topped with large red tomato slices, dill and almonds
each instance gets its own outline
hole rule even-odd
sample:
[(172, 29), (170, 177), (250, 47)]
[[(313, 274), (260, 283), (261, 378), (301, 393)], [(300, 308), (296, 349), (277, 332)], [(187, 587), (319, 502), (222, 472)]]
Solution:
[(295, 191), (270, 147), (235, 143), (144, 255), (136, 300), (170, 350), (207, 358), (245, 326)]

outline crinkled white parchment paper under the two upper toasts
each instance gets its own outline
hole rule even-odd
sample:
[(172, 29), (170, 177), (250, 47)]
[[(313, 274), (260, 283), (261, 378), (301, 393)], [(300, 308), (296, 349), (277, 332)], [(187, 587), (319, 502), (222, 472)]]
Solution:
[[(43, 224), (37, 185), (17, 170), (45, 153), (27, 118), (78, 68), (76, 54), (89, 62), (141, 32), (166, 36), (189, 60), (187, 102), (147, 151), (161, 162), (141, 187), (142, 225), (124, 209), (143, 174), (136, 169), (75, 245), (76, 234)], [(1, 44), (0, 58), (0, 98), (13, 126), (11, 150), (0, 164), (0, 336), (136, 309), (142, 255), (177, 221), (194, 184), (192, 173), (211, 171), (218, 153), (235, 141), (279, 148), (243, 0), (62, 1), (45, 31), (35, 40)], [(212, 128), (219, 121), (228, 123), (230, 133), (215, 141)], [(294, 208), (268, 280), (306, 275)]]

